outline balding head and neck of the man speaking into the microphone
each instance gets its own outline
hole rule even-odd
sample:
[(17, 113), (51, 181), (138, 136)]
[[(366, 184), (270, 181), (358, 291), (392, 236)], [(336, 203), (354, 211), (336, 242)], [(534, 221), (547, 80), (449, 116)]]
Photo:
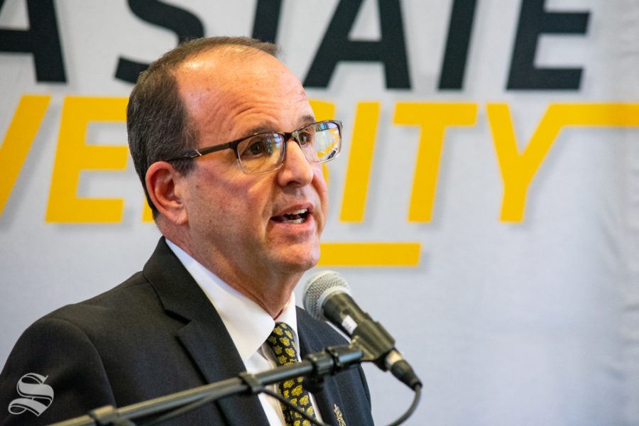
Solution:
[[(315, 117), (302, 84), (271, 45), (222, 40), (169, 53), (164, 65), (141, 76), (138, 85), (147, 87), (134, 89), (129, 106), (131, 152), (160, 231), (275, 315), (320, 256), (327, 213), (321, 165), (290, 139), (283, 164), (269, 173), (245, 173), (232, 149), (172, 159), (255, 133), (294, 131)], [(155, 80), (172, 80), (168, 89), (162, 83), (153, 90), (174, 99), (155, 94), (146, 105), (142, 94)], [(138, 114), (142, 109), (149, 112)]]

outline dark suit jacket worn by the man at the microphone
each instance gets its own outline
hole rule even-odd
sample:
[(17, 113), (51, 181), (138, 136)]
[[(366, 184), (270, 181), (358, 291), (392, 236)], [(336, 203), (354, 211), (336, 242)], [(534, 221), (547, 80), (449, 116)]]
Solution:
[[(299, 308), (297, 327), (302, 356), (345, 343)], [(142, 272), (107, 293), (46, 315), (24, 332), (0, 374), (0, 423), (46, 425), (103, 405), (122, 407), (221, 381), (244, 370), (211, 302), (160, 239)], [(27, 395), (18, 395), (16, 384), (26, 373), (46, 376), (43, 384), (55, 393), (39, 417), (8, 411), (12, 401), (33, 398), (44, 388), (38, 383), (23, 386)], [(33, 377), (24, 382), (34, 383)], [(373, 423), (361, 368), (327, 378), (315, 398), (325, 422), (337, 424), (337, 405), (347, 425)], [(266, 425), (267, 420), (255, 395), (234, 395), (166, 424)]]

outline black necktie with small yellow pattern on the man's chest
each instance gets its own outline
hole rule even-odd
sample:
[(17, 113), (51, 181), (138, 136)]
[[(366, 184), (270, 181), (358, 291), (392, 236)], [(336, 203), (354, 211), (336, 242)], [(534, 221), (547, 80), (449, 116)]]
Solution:
[[(293, 330), (284, 322), (275, 323), (275, 328), (268, 339), (266, 339), (266, 344), (268, 344), (273, 354), (275, 354), (275, 361), (277, 361), (279, 366), (297, 362), (297, 349), (295, 349)], [(291, 404), (305, 411), (307, 415), (315, 419), (317, 418), (315, 417), (315, 410), (310, 402), (308, 392), (305, 388), (302, 388), (302, 381), (303, 379), (301, 377), (297, 377), (281, 382), (280, 393)], [(304, 420), (300, 413), (290, 410), (286, 405), (281, 405), (286, 426), (310, 426), (311, 423), (308, 420)]]

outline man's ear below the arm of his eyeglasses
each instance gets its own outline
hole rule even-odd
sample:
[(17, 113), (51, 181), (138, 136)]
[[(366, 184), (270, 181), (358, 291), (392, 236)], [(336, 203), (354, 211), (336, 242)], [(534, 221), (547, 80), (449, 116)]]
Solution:
[(188, 222), (180, 182), (184, 176), (165, 161), (158, 161), (146, 170), (146, 190), (158, 212), (176, 225)]

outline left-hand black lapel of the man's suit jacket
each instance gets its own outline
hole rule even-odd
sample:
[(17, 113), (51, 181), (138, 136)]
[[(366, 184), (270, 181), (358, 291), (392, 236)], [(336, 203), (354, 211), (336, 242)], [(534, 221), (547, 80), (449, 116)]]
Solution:
[[(177, 333), (207, 383), (236, 377), (246, 370), (224, 322), (182, 263), (160, 239), (144, 266), (168, 315), (179, 315), (185, 327)], [(233, 395), (217, 401), (229, 424), (268, 424), (256, 395)]]

